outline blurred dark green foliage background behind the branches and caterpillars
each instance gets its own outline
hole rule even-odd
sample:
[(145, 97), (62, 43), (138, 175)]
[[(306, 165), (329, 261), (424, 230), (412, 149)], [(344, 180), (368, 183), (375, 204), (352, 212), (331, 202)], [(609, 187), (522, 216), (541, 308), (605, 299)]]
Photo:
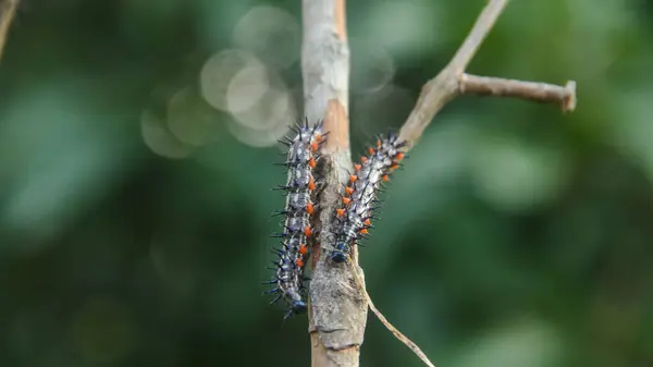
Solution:
[[(484, 3), (348, 3), (355, 156)], [(259, 285), (299, 14), (23, 1), (0, 65), (0, 366), (309, 363), (306, 319)], [(577, 111), (460, 98), (393, 176), (361, 264), (439, 366), (653, 366), (651, 24), (643, 0), (512, 1), (469, 71), (576, 79)], [(370, 317), (361, 366), (420, 363)]]

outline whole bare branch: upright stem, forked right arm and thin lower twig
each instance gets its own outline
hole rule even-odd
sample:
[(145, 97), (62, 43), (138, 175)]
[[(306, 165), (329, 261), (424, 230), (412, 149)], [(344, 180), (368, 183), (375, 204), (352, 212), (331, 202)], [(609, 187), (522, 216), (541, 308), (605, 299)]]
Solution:
[[(399, 139), (408, 142), (407, 149), (417, 142), (435, 114), (458, 95), (518, 97), (557, 102), (564, 111), (574, 110), (574, 82), (560, 87), (465, 74), (467, 65), (507, 2), (508, 0), (490, 0), (452, 61), (422, 87), (414, 110), (399, 131)], [(345, 0), (303, 0), (303, 24), (304, 110), (311, 123), (323, 119), (324, 132), (329, 134), (321, 150), (323, 159), (318, 168), (323, 180), (318, 197), (318, 220), (313, 223), (319, 233), (319, 244), (311, 249), (308, 328), (311, 364), (313, 367), (356, 367), (368, 309), (364, 273), (358, 267), (356, 246), (353, 247), (352, 267), (334, 264), (328, 256), (334, 245), (331, 234), (335, 233), (337, 225), (334, 212), (341, 199), (340, 188), (352, 170), (348, 133), (349, 49)], [(382, 316), (380, 318), (384, 325), (390, 325)], [(393, 327), (389, 329), (427, 365), (430, 364), (415, 343), (406, 341), (407, 338)]]

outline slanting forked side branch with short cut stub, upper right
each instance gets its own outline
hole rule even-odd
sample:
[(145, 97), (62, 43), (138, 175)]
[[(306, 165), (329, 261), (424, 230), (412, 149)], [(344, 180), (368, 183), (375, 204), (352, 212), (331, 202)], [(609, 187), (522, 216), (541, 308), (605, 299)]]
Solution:
[(560, 87), (542, 83), (506, 81), (465, 74), (467, 65), (507, 3), (508, 0), (490, 0), (448, 65), (422, 87), (417, 103), (399, 131), (399, 138), (408, 142), (407, 149), (415, 145), (435, 114), (460, 94), (481, 94), (517, 97), (541, 102), (556, 102), (562, 106), (563, 111), (574, 110), (576, 107), (575, 82), (569, 82), (566, 87)]

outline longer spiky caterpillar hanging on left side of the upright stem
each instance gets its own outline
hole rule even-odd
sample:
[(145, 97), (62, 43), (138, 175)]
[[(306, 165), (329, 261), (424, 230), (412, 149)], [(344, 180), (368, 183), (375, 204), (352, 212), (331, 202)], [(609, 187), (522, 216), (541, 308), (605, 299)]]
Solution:
[(320, 157), (319, 147), (325, 142), (322, 134), (322, 122), (313, 126), (308, 125), (305, 119), (303, 124), (293, 129), (296, 134), (293, 138), (284, 137), (280, 143), (288, 146), (286, 161), (281, 163), (287, 167), (287, 181), (278, 189), (286, 192), (286, 204), (283, 210), (275, 215), (284, 216), (283, 232), (273, 236), (281, 238), (281, 248), (273, 250), (279, 256), (273, 261), (274, 277), (264, 284), (274, 288), (266, 293), (275, 294), (271, 304), (283, 299), (288, 306), (284, 320), (293, 315), (306, 311), (306, 284), (304, 276), (308, 258), (309, 241), (315, 235), (310, 218), (316, 207), (313, 204), (317, 182), (313, 176)]

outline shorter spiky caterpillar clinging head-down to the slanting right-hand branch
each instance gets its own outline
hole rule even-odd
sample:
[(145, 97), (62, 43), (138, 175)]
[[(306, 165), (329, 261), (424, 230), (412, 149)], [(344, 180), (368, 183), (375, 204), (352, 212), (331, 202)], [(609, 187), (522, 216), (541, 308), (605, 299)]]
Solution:
[(405, 142), (399, 142), (398, 136), (390, 132), (387, 137), (377, 140), (377, 148), (368, 149), (369, 155), (361, 157), (360, 163), (354, 164), (354, 173), (341, 194), (343, 206), (335, 212), (340, 223), (335, 249), (331, 253), (333, 261), (345, 261), (352, 247), (368, 236), (377, 209), (377, 195), (382, 183), (387, 182), (390, 174), (399, 167), (404, 159), (401, 148), (405, 146)]

